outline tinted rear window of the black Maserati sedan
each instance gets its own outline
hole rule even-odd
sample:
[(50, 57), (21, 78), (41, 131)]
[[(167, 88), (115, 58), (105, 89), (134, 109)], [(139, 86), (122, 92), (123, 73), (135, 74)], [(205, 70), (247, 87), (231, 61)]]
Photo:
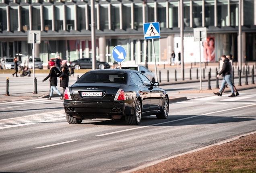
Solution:
[(85, 73), (81, 78), (78, 79), (78, 83), (125, 83), (126, 73), (116, 72), (95, 72)]

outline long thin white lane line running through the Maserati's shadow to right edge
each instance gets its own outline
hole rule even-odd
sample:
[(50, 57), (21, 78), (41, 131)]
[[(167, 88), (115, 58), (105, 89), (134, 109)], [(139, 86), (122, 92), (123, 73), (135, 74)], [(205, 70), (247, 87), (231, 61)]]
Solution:
[(162, 125), (162, 124), (166, 124), (166, 123), (173, 123), (175, 121), (182, 121), (182, 120), (186, 120), (186, 119), (192, 119), (192, 118), (196, 118), (196, 117), (200, 117), (200, 116), (204, 116), (204, 115), (210, 115), (210, 114), (214, 114), (214, 113), (220, 113), (220, 112), (225, 112), (225, 111), (231, 111), (231, 110), (235, 110), (235, 109), (241, 109), (241, 108), (245, 108), (245, 107), (251, 107), (251, 106), (255, 106), (256, 104), (253, 105), (246, 105), (246, 106), (242, 106), (242, 107), (235, 107), (235, 108), (231, 108), (231, 109), (225, 109), (225, 110), (221, 110), (221, 111), (215, 111), (215, 112), (210, 112), (210, 113), (205, 113), (205, 114), (201, 114), (201, 115), (194, 115), (192, 117), (187, 117), (187, 118), (183, 118), (183, 119), (177, 119), (177, 120), (172, 120), (172, 121), (166, 121), (163, 123), (157, 123), (157, 124), (152, 124), (152, 125), (147, 125), (147, 126), (141, 126), (141, 127), (135, 127), (132, 129), (125, 129), (125, 130), (121, 130), (121, 131), (114, 131), (114, 132), (110, 132), (110, 133), (104, 133), (101, 135), (95, 135), (96, 137), (101, 137), (101, 136), (106, 136), (106, 135), (111, 135), (111, 134), (115, 134), (115, 133), (121, 133), (121, 132), (125, 132), (125, 131), (131, 131), (131, 130), (135, 130), (135, 129), (142, 129), (145, 127), (151, 127), (151, 126), (156, 126), (156, 125)]

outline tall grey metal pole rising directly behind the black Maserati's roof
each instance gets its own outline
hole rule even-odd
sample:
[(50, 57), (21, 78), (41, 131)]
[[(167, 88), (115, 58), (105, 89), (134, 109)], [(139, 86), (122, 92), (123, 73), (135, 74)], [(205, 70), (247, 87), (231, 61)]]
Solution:
[(97, 67), (96, 63), (96, 46), (95, 46), (95, 13), (94, 13), (94, 0), (91, 0), (91, 50), (92, 50), (92, 69), (95, 70)]

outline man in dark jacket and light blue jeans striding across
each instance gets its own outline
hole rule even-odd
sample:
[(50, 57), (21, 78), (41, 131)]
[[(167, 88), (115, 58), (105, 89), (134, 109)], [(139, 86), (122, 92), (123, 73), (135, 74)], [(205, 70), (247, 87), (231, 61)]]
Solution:
[(229, 85), (231, 93), (232, 93), (229, 97), (235, 97), (233, 84), (231, 82), (231, 70), (232, 70), (231, 64), (229, 63), (229, 59), (225, 55), (221, 56), (221, 60), (223, 60), (224, 63), (222, 66), (222, 70), (217, 74), (217, 78), (219, 78), (219, 76), (221, 74), (223, 74), (224, 77), (221, 82), (221, 88), (219, 89), (218, 93), (214, 93), (214, 94), (221, 96), (220, 93), (223, 90), (223, 88), (225, 87), (225, 84), (227, 83)]

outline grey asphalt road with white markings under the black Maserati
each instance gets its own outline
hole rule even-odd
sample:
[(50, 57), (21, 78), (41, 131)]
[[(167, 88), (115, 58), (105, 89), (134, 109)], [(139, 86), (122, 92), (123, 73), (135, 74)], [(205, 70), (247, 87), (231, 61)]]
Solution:
[[(62, 101), (0, 104), (0, 172), (111, 173), (256, 130), (256, 89), (170, 104), (169, 117), (66, 122)], [(12, 118), (12, 119), (10, 119)]]

